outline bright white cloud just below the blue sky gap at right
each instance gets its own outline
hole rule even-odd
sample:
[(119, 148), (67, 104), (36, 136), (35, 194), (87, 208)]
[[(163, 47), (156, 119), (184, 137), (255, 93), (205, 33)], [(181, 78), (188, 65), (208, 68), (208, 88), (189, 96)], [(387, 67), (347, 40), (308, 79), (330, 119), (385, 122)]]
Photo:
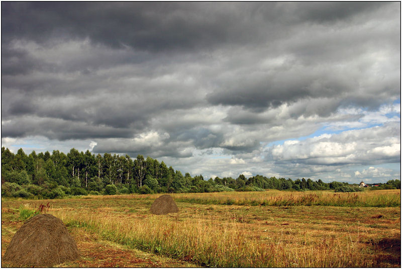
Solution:
[(385, 163), (400, 161), (400, 123), (321, 135), (304, 141), (289, 140), (272, 146), (268, 158), (310, 164)]

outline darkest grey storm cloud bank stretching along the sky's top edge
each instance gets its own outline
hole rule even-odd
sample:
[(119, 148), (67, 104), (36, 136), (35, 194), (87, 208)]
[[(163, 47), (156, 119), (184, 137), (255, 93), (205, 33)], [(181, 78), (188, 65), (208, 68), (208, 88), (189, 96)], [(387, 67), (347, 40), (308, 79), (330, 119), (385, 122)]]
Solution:
[(385, 4), (3, 2), (2, 37), (5, 42), (26, 38), (38, 43), (89, 37), (112, 47), (151, 51), (209, 49), (263, 38), (261, 26), (272, 23), (331, 23), (381, 5)]

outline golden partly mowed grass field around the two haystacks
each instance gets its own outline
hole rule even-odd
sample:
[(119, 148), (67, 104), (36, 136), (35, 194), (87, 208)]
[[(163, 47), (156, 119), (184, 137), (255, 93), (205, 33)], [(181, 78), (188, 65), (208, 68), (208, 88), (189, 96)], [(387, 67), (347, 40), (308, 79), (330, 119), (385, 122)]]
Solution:
[[(49, 202), (80, 258), (56, 267), (400, 267), (400, 190), (172, 194), (179, 213), (152, 215), (159, 195), (2, 198), (2, 257)], [(2, 266), (12, 266), (2, 261)]]

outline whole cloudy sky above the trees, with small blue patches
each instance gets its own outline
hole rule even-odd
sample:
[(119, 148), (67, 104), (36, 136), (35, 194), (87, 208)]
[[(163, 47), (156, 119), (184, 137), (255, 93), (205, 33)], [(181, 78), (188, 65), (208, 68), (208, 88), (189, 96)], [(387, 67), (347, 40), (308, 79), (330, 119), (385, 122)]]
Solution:
[(400, 179), (399, 2), (2, 2), (2, 146)]

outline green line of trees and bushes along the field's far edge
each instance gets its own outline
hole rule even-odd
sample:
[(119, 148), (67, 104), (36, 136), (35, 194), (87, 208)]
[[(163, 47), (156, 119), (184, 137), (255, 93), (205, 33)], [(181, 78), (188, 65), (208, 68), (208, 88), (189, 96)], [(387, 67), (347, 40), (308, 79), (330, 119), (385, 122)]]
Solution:
[[(376, 189), (400, 189), (399, 180), (377, 184)], [(184, 175), (163, 161), (138, 155), (105, 153), (92, 154), (72, 148), (64, 154), (53, 150), (27, 155), (22, 148), (17, 154), (2, 147), (2, 196), (24, 198), (57, 198), (69, 195), (129, 194), (129, 193), (204, 193), (222, 191), (276, 190), (336, 190), (360, 191), (348, 183), (324, 183), (302, 178), (266, 177), (256, 175), (246, 178), (215, 177), (208, 181), (203, 175)]]

